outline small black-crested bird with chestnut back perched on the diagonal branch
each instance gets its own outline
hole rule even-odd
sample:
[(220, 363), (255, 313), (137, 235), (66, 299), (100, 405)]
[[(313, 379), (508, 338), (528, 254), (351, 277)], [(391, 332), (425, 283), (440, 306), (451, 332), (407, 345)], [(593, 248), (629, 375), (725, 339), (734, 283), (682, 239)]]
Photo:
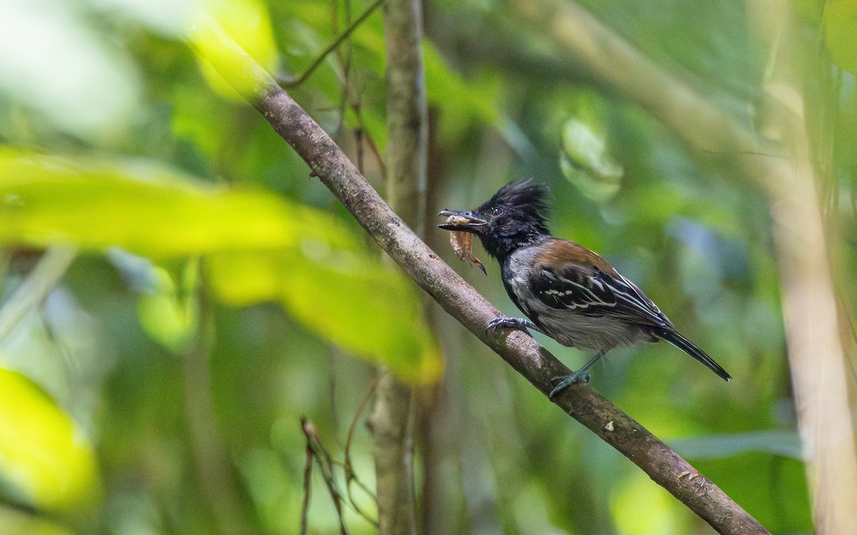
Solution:
[[(548, 397), (588, 382), (590, 368), (613, 348), (664, 340), (727, 382), (732, 376), (692, 342), (636, 284), (607, 260), (573, 241), (550, 234), (550, 189), (533, 179), (512, 181), (471, 211), (440, 211), (440, 229), (470, 232), (500, 264), (509, 298), (526, 318), (494, 318), (497, 330), (536, 330), (563, 346), (596, 351), (584, 366), (563, 377)], [(455, 218), (452, 218), (455, 216)], [(451, 222), (456, 223), (451, 223)]]

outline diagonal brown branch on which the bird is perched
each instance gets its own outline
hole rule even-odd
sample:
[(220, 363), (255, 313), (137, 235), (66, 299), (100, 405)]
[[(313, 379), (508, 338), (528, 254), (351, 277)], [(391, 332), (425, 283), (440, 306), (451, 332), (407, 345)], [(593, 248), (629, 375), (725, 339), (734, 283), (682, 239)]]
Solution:
[[(551, 379), (570, 372), (530, 336), (487, 336), (500, 312), (407, 227), (369, 186), (330, 136), (211, 20), (197, 21), (191, 45), (241, 92), (309, 164), (369, 235), (453, 318), (548, 395)], [(564, 390), (554, 403), (644, 470), (651, 479), (722, 533), (767, 533), (710, 479), (588, 385)], [(691, 477), (695, 476), (695, 477)]]

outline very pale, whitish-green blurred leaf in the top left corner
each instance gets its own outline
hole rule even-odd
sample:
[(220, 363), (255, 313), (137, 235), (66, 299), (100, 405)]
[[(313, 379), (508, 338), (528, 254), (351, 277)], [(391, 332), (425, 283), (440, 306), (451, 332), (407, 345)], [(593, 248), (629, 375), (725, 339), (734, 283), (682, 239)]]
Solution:
[(77, 4), (3, 3), (0, 103), (11, 97), (38, 110), (40, 129), (53, 125), (109, 145), (123, 138), (141, 104), (140, 73), (123, 48), (107, 45)]

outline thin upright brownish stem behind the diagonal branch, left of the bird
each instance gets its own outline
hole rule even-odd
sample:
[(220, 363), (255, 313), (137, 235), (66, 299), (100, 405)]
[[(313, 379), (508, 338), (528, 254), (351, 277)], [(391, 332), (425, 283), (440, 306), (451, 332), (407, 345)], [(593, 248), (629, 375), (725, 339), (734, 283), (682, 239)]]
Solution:
[[(411, 229), (421, 231), (426, 182), (428, 121), (423, 74), (422, 5), (388, 0), (387, 43), (387, 201)], [(389, 259), (385, 259), (389, 261)], [(371, 416), (378, 521), (381, 535), (415, 533), (413, 481), (413, 393), (388, 370)]]

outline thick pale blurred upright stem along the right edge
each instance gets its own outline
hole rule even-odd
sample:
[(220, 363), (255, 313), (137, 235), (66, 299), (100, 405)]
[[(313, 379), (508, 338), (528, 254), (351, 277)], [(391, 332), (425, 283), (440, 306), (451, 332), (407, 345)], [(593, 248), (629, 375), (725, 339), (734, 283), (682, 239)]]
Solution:
[(846, 381), (850, 366), (839, 337), (830, 229), (818, 195), (824, 164), (814, 164), (810, 137), (819, 119), (807, 116), (804, 92), (807, 80), (829, 75), (829, 66), (818, 66), (815, 41), (793, 20), (792, 3), (756, 0), (748, 8), (771, 58), (764, 126), (781, 140), (784, 155), (774, 166), (779, 180), (771, 182), (771, 213), (812, 520), (818, 533), (851, 532), (857, 526), (857, 459)]

